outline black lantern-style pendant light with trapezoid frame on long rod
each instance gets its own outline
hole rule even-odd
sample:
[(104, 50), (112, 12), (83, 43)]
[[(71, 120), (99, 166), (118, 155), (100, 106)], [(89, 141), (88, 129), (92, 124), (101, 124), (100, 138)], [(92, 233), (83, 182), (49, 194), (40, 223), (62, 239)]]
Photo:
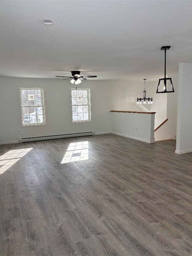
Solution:
[[(167, 93), (167, 92), (175, 92), (173, 89), (173, 83), (171, 78), (166, 78), (166, 50), (169, 50), (170, 46), (162, 46), (161, 50), (165, 51), (165, 77), (159, 79), (158, 87), (157, 87), (157, 92), (156, 93)], [(168, 84), (170, 84), (170, 91), (168, 91)], [(160, 91), (160, 86), (162, 85), (163, 89)]]

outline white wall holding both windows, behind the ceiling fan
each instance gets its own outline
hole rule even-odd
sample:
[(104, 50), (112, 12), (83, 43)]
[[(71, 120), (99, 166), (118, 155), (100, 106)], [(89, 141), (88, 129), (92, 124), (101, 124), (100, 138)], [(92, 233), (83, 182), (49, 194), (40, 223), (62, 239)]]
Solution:
[[(91, 123), (71, 124), (69, 81), (58, 79), (27, 79), (1, 77), (2, 142), (18, 142), (20, 137), (35, 137), (83, 131), (110, 132), (110, 83), (82, 81), (79, 88), (91, 88)], [(20, 127), (17, 87), (44, 87), (46, 103), (46, 126)], [(98, 126), (96, 124), (98, 123)], [(20, 133), (18, 133), (20, 129)]]

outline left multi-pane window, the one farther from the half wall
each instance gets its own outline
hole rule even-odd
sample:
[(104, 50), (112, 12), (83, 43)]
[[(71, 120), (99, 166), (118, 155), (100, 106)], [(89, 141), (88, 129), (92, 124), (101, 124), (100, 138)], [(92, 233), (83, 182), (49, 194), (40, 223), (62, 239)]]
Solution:
[(43, 88), (20, 88), (22, 126), (45, 125)]

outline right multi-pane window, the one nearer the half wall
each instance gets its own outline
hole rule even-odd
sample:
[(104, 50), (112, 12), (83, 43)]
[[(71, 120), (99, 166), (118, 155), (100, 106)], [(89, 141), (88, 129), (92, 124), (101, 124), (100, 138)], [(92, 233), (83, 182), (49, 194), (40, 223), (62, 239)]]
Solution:
[(71, 89), (71, 101), (72, 122), (90, 122), (90, 89)]

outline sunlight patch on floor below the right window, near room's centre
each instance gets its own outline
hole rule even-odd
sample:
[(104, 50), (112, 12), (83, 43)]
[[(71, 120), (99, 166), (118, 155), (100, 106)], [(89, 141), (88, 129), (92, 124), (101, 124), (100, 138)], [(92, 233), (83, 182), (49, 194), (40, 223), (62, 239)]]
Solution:
[(70, 143), (61, 164), (88, 160), (88, 141)]

